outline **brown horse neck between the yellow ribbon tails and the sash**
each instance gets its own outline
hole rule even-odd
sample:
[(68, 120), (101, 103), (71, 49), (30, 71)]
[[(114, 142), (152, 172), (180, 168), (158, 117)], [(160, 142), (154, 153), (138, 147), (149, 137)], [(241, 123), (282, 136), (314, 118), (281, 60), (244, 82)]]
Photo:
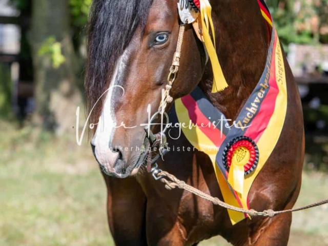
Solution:
[(211, 93), (210, 63), (199, 86), (214, 106), (234, 120), (263, 73), (269, 33), (256, 0), (215, 0), (211, 3), (216, 51), (229, 87)]

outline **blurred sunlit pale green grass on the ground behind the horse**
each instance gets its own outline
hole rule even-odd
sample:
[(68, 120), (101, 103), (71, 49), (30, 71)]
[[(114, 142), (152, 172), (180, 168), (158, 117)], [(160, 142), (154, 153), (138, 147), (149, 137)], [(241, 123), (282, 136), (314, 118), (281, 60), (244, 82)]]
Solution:
[[(0, 245), (113, 245), (103, 178), (75, 131), (53, 138), (0, 121)], [(304, 174), (302, 206), (328, 197), (328, 178)], [(328, 206), (294, 214), (291, 246), (328, 245)], [(228, 243), (213, 238), (202, 246)]]

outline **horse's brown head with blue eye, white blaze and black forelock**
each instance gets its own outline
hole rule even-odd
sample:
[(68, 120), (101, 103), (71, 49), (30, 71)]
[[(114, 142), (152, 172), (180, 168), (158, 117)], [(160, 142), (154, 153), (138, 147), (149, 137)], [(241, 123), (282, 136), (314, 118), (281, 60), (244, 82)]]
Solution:
[[(177, 3), (93, 1), (85, 87), (95, 126), (93, 153), (108, 175), (135, 175), (148, 156), (142, 151), (147, 144), (140, 125), (157, 112), (167, 85), (181, 25)], [(189, 94), (206, 65), (192, 25), (186, 26), (183, 44), (173, 98)]]

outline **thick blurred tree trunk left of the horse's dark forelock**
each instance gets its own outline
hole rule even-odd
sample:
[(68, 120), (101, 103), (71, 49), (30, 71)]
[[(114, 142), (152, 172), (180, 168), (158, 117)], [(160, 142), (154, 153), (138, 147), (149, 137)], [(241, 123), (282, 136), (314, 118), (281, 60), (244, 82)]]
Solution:
[[(70, 29), (68, 0), (32, 1), (30, 32), (35, 81), (36, 108), (33, 122), (47, 130), (64, 133), (75, 125), (76, 107), (81, 106), (78, 70)], [(39, 55), (49, 37), (61, 44), (65, 62), (54, 68), (48, 55)]]

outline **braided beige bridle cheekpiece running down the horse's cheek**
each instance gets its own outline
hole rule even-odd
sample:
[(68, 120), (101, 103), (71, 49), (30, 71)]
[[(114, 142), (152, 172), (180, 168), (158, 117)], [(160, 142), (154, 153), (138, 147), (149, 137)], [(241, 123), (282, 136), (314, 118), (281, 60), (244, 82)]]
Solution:
[(176, 48), (176, 52), (174, 53), (172, 66), (170, 68), (170, 73), (168, 76), (168, 84), (165, 87), (163, 99), (158, 108), (158, 112), (160, 112), (160, 113), (165, 112), (167, 105), (172, 103), (172, 101), (173, 101), (172, 96), (170, 96), (170, 91), (172, 89), (173, 83), (174, 83), (174, 81), (177, 77), (178, 71), (179, 71), (181, 48), (182, 48), (182, 43), (183, 43), (183, 34), (185, 34), (185, 25), (180, 26), (177, 48)]

